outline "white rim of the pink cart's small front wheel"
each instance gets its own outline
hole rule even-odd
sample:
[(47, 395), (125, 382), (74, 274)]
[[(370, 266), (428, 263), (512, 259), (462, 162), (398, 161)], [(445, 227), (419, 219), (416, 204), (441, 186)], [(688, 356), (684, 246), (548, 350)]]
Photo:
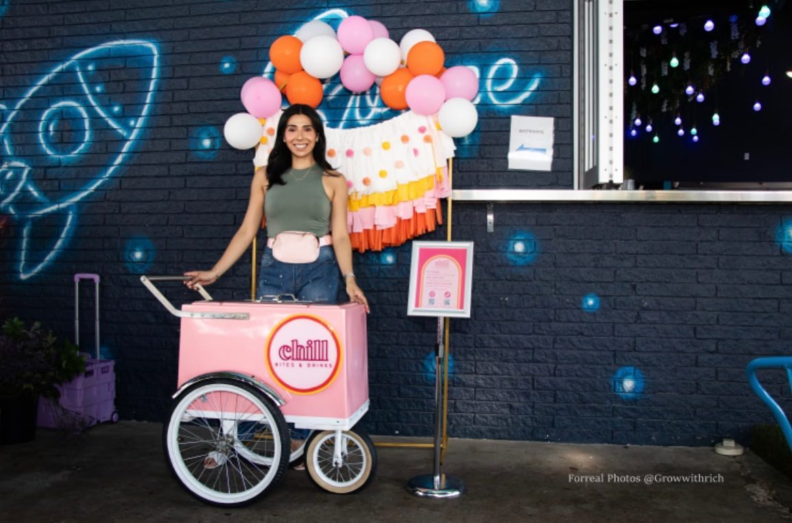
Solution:
[(314, 446), (310, 455), (313, 469), (324, 483), (329, 486), (343, 489), (358, 483), (364, 477), (368, 468), (368, 456), (364, 451), (365, 444), (354, 434), (342, 433), (341, 467), (333, 464), (333, 449), (335, 447), (335, 434), (329, 432), (318, 436), (319, 441)]

